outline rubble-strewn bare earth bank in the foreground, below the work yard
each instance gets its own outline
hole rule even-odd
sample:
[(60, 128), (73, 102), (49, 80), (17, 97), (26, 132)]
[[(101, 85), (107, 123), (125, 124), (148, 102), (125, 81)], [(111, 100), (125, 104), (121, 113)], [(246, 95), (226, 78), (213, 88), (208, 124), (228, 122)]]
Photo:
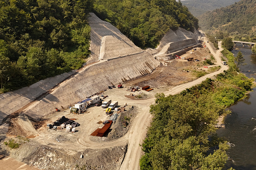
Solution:
[[(58, 139), (66, 140), (65, 137), (58, 137)], [(19, 149), (11, 150), (3, 144), (5, 140), (4, 136), (0, 136), (2, 145), (0, 152), (2, 154), (16, 159), (22, 158), (22, 162), (39, 169), (71, 170), (84, 167), (87, 170), (113, 170), (120, 166), (127, 151), (127, 144), (124, 144), (123, 146), (113, 146), (107, 149), (83, 149), (75, 154), (74, 152), (66, 154), (61, 150), (38, 144), (33, 140), (21, 143)]]

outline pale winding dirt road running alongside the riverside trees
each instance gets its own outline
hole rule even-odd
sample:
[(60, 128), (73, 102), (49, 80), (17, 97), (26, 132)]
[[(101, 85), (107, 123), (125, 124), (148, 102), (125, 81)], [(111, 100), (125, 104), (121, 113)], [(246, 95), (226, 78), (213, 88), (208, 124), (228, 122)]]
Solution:
[[(206, 40), (206, 37), (204, 37), (204, 39)], [(213, 76), (228, 69), (228, 66), (222, 65), (220, 63), (220, 61), (221, 61), (220, 51), (223, 50), (221, 48), (220, 42), (219, 42), (220, 49), (217, 50), (216, 53), (214, 53), (213, 49), (211, 48), (211, 46), (209, 44), (206, 44), (206, 46), (210, 49), (212, 55), (215, 57), (215, 59), (217, 61), (216, 64), (220, 65), (221, 69), (216, 72), (213, 72), (211, 74), (207, 74), (201, 78), (198, 78), (192, 82), (178, 85), (178, 86), (172, 88), (171, 90), (164, 92), (165, 95), (177, 94), (177, 93), (181, 92), (182, 90), (185, 90), (186, 88), (190, 88), (194, 85), (200, 84), (206, 78), (212, 78)], [(154, 99), (144, 100), (144, 102), (148, 103), (147, 105), (149, 106), (150, 104), (154, 103)], [(147, 127), (149, 126), (150, 120), (151, 120), (151, 115), (149, 114), (149, 107), (143, 108), (141, 110), (143, 110), (143, 112), (141, 112), (137, 115), (137, 119), (134, 120), (133, 126), (130, 129), (130, 131), (128, 132), (129, 133), (128, 150), (126, 152), (126, 155), (124, 157), (124, 161), (120, 167), (120, 170), (140, 169), (139, 168), (139, 159), (140, 159), (141, 153), (142, 153), (140, 144), (142, 144), (142, 142), (146, 136)]]

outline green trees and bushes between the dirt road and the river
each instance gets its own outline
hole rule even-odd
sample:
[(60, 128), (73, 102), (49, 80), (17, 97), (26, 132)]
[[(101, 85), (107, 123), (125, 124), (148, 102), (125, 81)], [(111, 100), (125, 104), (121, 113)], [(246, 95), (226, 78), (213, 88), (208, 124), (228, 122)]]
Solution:
[[(154, 116), (142, 144), (141, 170), (221, 170), (228, 155), (227, 141), (215, 134), (219, 115), (227, 106), (251, 90), (253, 78), (236, 72), (234, 56), (228, 50), (229, 70), (207, 78), (180, 94), (156, 94), (150, 106)], [(232, 168), (230, 168), (232, 169)]]

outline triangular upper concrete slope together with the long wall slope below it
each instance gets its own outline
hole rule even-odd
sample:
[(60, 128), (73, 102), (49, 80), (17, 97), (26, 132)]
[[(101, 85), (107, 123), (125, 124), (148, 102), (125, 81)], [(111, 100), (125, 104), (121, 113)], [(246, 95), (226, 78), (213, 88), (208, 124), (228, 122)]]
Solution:
[[(96, 92), (106, 89), (109, 85), (117, 85), (144, 74), (149, 74), (159, 65), (153, 55), (136, 47), (117, 28), (100, 20), (92, 13), (91, 16), (89, 22), (92, 24), (91, 60), (95, 61), (99, 57), (97, 52), (100, 51), (102, 39), (100, 33), (104, 36), (109, 36), (109, 41), (106, 41), (109, 44), (105, 43), (103, 55), (108, 60), (100, 60), (100, 62), (85, 67), (42, 100), (33, 102), (24, 111), (25, 114), (35, 119), (41, 118), (52, 113), (55, 107), (68, 107)], [(108, 38), (106, 39), (108, 40)], [(115, 40), (123, 42), (122, 46), (119, 47)], [(119, 57), (118, 55), (121, 56)]]

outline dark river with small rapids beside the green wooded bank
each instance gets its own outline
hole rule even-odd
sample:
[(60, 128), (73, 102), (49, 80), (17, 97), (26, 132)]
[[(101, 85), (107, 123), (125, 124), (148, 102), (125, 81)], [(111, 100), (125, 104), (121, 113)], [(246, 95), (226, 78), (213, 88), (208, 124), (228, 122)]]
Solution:
[[(252, 55), (252, 48), (236, 46), (232, 53), (238, 51), (244, 55), (244, 63), (240, 70), (249, 78), (256, 78), (256, 55)], [(217, 133), (234, 144), (228, 150), (231, 160), (226, 163), (226, 170), (230, 167), (236, 170), (256, 170), (256, 88), (248, 97), (240, 100), (228, 108), (232, 111), (225, 120), (226, 128), (220, 128)]]

